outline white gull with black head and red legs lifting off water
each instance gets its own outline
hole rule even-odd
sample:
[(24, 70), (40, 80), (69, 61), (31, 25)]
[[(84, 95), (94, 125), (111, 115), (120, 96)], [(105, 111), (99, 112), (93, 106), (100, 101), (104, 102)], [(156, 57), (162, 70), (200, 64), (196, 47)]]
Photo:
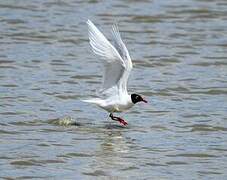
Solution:
[(108, 111), (112, 120), (127, 125), (125, 120), (113, 116), (113, 113), (125, 111), (137, 102), (147, 103), (138, 94), (128, 94), (127, 81), (132, 70), (132, 61), (128, 50), (116, 25), (113, 25), (112, 28), (114, 42), (114, 45), (112, 45), (90, 20), (87, 21), (87, 24), (92, 50), (102, 57), (104, 63), (103, 84), (100, 93), (105, 98), (93, 98), (83, 101), (96, 104)]

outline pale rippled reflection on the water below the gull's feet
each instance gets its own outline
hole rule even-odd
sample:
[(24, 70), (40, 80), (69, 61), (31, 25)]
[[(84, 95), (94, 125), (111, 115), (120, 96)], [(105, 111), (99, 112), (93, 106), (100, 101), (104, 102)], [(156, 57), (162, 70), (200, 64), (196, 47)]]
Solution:
[(127, 130), (117, 125), (106, 125), (100, 138), (100, 147), (96, 151), (95, 164), (92, 167), (110, 173), (113, 169), (124, 169), (132, 162), (126, 160), (133, 147), (132, 139), (125, 136)]

